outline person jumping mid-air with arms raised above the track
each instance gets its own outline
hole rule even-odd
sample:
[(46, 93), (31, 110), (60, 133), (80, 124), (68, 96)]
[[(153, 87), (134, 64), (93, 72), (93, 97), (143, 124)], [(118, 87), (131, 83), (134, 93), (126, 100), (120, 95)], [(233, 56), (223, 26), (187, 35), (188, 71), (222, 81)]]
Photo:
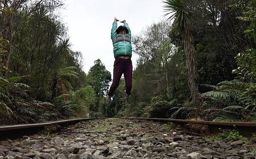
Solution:
[(113, 81), (108, 91), (106, 103), (111, 102), (111, 97), (119, 85), (122, 74), (125, 77), (125, 100), (128, 102), (131, 95), (132, 86), (132, 62), (131, 62), (131, 30), (125, 20), (121, 21), (124, 26), (117, 28), (119, 20), (115, 17), (111, 29), (111, 39), (113, 42), (113, 52), (115, 57), (113, 69)]

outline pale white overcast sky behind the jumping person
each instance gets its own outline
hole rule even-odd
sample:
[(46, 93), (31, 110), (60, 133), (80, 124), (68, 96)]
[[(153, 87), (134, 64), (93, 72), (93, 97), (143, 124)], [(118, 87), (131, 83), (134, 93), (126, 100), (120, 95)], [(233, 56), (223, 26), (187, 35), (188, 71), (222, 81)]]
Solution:
[[(114, 17), (126, 20), (133, 36), (163, 19), (162, 6), (162, 0), (65, 0), (62, 17), (73, 51), (83, 55), (85, 73), (100, 59), (113, 76), (115, 59), (110, 32)], [(121, 24), (118, 22), (118, 26)], [(134, 68), (137, 57), (133, 53)]]

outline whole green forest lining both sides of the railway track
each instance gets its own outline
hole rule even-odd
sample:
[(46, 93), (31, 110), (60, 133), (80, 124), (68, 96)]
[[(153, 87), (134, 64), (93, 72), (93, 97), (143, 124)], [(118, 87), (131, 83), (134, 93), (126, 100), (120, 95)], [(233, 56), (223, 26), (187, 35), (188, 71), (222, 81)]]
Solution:
[(57, 13), (62, 0), (0, 0), (0, 125), (90, 117), (256, 122), (256, 0), (164, 0), (133, 35), (133, 88), (88, 73)]

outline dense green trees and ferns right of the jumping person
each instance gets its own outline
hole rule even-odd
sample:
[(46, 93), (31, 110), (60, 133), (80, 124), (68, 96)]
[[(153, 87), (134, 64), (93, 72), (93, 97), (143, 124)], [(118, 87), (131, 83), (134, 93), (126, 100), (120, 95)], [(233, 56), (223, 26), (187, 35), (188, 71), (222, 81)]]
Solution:
[[(175, 23), (160, 21), (133, 37), (139, 59), (132, 96), (126, 104), (116, 91), (115, 115), (255, 122), (256, 1), (166, 0), (164, 5), (167, 16), (177, 12), (170, 15)], [(183, 10), (189, 15), (181, 16)], [(185, 43), (192, 38), (194, 44)], [(193, 45), (196, 77), (189, 72), (195, 65), (187, 61)]]

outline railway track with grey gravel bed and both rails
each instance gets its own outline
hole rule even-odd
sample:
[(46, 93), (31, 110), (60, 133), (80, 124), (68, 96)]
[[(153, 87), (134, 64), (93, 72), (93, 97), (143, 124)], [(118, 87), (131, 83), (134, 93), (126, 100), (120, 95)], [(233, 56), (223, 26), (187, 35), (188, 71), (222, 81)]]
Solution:
[[(179, 126), (166, 129), (169, 122)], [(250, 136), (256, 123), (86, 118), (6, 125), (0, 126), (0, 159), (255, 159), (255, 143), (202, 136), (218, 128), (236, 128)]]

